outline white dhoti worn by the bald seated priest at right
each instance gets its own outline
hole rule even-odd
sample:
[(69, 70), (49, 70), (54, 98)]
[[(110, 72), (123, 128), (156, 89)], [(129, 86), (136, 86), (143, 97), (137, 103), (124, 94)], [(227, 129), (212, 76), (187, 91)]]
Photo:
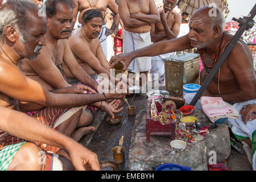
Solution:
[[(184, 96), (184, 99), (189, 104), (195, 95), (196, 95), (196, 93), (188, 93)], [(245, 101), (245, 102), (238, 102), (236, 104), (233, 104), (233, 107), (239, 113), (240, 110), (242, 109), (242, 107), (244, 105), (248, 105), (248, 104), (256, 104), (256, 99), (250, 100), (250, 101)], [(198, 100), (196, 102), (195, 108), (202, 109), (200, 100)], [(251, 114), (251, 115), (253, 115), (253, 114)], [(251, 115), (249, 116), (249, 118), (251, 117)], [(247, 121), (245, 124), (245, 123), (243, 123), (241, 115), (240, 115), (240, 118), (238, 118), (238, 119), (228, 118), (226, 123), (228, 124), (229, 128), (232, 130), (232, 133), (237, 140), (240, 140), (240, 141), (243, 139), (251, 140), (251, 157), (249, 156), (249, 158), (251, 159), (251, 164), (253, 166), (253, 170), (255, 171), (256, 170), (256, 154), (255, 154), (255, 151), (256, 151), (256, 119), (254, 119), (253, 121)]]

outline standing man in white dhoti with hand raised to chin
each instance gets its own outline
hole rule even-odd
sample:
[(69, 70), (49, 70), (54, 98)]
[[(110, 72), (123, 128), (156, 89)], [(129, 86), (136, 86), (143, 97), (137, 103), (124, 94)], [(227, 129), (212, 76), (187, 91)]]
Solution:
[[(172, 10), (177, 4), (177, 0), (165, 0), (163, 10), (160, 11), (160, 23), (155, 23), (151, 27), (152, 42), (161, 42), (164, 40), (175, 39), (180, 32), (181, 15), (173, 13)], [(164, 86), (164, 61), (163, 59), (176, 55), (176, 52), (169, 52), (163, 55), (154, 56), (151, 59), (150, 73), (152, 80), (158, 80), (159, 86)], [(155, 76), (158, 74), (158, 76)]]

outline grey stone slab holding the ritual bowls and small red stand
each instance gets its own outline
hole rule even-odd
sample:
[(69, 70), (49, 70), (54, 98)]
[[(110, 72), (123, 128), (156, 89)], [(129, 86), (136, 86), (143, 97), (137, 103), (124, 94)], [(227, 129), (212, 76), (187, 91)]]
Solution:
[[(179, 117), (176, 113), (176, 117)], [(196, 110), (196, 117), (203, 126), (210, 126), (203, 110)], [(168, 136), (151, 135), (150, 143), (146, 142), (146, 109), (134, 122), (129, 150), (129, 170), (154, 170), (164, 163), (175, 163), (189, 166), (192, 170), (208, 170), (209, 160), (216, 154), (216, 162), (224, 162), (230, 155), (229, 129), (226, 124), (218, 125), (217, 129), (209, 130), (203, 140), (197, 141), (182, 152), (172, 151), (171, 138)]]

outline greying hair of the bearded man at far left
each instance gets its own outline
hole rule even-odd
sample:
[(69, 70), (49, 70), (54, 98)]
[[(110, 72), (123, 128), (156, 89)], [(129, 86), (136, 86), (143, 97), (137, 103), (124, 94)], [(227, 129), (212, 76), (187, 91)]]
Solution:
[(19, 41), (26, 42), (23, 33), (32, 9), (39, 10), (30, 0), (7, 0), (0, 8), (0, 39), (6, 36), (7, 26), (14, 26), (19, 34)]

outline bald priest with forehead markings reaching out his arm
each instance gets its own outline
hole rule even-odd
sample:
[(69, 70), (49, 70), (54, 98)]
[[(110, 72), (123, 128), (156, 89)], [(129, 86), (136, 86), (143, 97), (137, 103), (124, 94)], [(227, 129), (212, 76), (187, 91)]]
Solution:
[[(211, 12), (215, 12), (216, 16), (210, 16)], [(232, 35), (224, 32), (223, 23), (225, 23), (225, 18), (220, 10), (209, 6), (202, 7), (192, 15), (189, 22), (189, 34), (180, 38), (155, 43), (128, 54), (117, 55), (110, 60), (111, 67), (122, 61), (125, 63), (123, 68), (125, 70), (135, 57), (156, 56), (196, 47), (204, 65), (204, 69), (200, 74), (201, 83), (203, 83), (216, 64), (218, 57), (222, 55), (224, 49), (233, 38)], [(243, 105), (256, 103), (253, 57), (245, 42), (238, 40), (234, 45), (229, 56), (210, 81), (207, 89), (205, 89), (203, 96), (222, 97), (222, 100), (232, 104), (238, 113)], [(184, 98), (189, 104), (193, 97), (192, 94), (187, 94)], [(201, 106), (201, 104), (198, 102), (195, 106)], [(245, 139), (251, 144), (252, 163), (254, 170), (256, 170), (256, 119), (246, 123), (242, 121), (241, 117), (236, 120), (228, 119), (228, 125), (237, 139)]]

